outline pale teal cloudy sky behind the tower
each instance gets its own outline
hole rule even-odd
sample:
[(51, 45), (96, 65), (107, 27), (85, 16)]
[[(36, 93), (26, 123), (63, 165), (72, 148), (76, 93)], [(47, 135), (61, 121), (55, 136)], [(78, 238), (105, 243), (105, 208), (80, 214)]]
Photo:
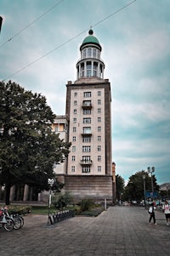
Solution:
[(170, 182), (170, 1), (1, 0), (0, 80), (42, 93), (65, 115), (92, 26), (111, 82), (112, 156), (125, 181), (154, 166)]

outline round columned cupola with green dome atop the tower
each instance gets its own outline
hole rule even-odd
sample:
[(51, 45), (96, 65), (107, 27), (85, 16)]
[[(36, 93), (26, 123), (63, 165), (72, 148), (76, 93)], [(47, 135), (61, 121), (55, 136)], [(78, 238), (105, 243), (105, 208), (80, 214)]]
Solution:
[(105, 64), (100, 59), (101, 45), (97, 37), (94, 37), (94, 31), (88, 31), (88, 37), (85, 37), (80, 47), (81, 60), (77, 62), (77, 80), (84, 78), (104, 79)]

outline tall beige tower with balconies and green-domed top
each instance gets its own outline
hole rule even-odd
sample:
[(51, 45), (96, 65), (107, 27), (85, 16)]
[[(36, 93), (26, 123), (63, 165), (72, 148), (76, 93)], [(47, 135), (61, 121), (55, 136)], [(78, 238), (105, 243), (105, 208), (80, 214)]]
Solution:
[(71, 152), (65, 190), (78, 198), (112, 199), (111, 84), (104, 78), (102, 48), (94, 31), (80, 47), (77, 80), (66, 85), (65, 115)]

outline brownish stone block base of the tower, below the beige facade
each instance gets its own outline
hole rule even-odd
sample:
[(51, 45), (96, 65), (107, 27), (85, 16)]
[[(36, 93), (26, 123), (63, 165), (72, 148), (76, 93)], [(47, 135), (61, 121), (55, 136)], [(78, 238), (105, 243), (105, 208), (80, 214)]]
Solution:
[(64, 190), (71, 192), (75, 202), (83, 198), (103, 202), (105, 199), (113, 202), (112, 176), (104, 175), (59, 175), (59, 181), (65, 184)]

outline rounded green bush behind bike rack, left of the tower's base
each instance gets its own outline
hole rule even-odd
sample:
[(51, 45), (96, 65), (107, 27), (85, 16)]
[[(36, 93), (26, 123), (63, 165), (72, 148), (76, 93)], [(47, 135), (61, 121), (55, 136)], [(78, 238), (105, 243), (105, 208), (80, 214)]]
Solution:
[(52, 203), (55, 208), (65, 208), (67, 205), (71, 204), (73, 197), (71, 193), (66, 191), (65, 193), (59, 193), (56, 196), (52, 197)]

